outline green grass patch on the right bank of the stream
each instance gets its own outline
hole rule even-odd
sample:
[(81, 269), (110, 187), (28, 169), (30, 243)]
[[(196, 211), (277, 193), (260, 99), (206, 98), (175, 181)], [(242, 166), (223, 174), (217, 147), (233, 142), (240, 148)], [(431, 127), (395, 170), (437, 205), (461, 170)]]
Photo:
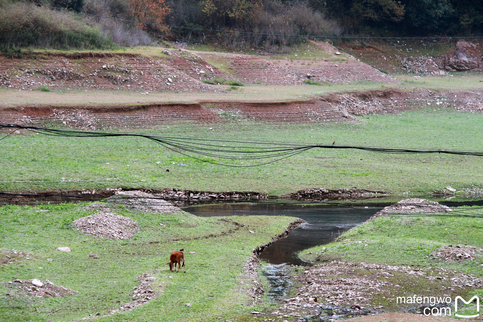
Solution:
[[(469, 212), (483, 215), (483, 210), (477, 207), (472, 207)], [(340, 241), (324, 245), (327, 250), (323, 254), (308, 254), (320, 252), (323, 246), (317, 246), (301, 252), (300, 256), (313, 262), (342, 260), (411, 267), (437, 266), (483, 277), (483, 269), (480, 266), (483, 257), (480, 260), (463, 263), (440, 263), (428, 257), (441, 246), (464, 244), (483, 247), (482, 228), (481, 217), (381, 217), (346, 231), (338, 238)], [(347, 238), (353, 241), (364, 239), (368, 246), (364, 246), (364, 243), (359, 246), (342, 245), (343, 240)]]

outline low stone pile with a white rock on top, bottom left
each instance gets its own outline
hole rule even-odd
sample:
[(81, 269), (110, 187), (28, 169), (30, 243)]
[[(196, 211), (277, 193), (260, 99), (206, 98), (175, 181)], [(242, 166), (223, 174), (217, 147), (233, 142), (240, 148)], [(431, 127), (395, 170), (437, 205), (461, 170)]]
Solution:
[(0, 284), (7, 289), (5, 295), (12, 298), (18, 296), (61, 297), (77, 293), (62, 285), (55, 285), (50, 280), (14, 280)]

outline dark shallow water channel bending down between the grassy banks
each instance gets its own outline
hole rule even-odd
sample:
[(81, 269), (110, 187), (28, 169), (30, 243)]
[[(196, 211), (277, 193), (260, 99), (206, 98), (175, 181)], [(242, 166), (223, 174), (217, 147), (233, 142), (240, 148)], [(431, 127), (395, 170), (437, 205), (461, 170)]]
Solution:
[(268, 297), (271, 300), (284, 298), (290, 289), (290, 275), (284, 266), (308, 264), (298, 257), (298, 252), (329, 243), (343, 232), (364, 223), (370, 216), (383, 209), (381, 206), (376, 207), (371, 204), (341, 206), (250, 202), (216, 202), (182, 208), (201, 217), (285, 215), (305, 220), (304, 224), (275, 241), (259, 255), (260, 259), (268, 263), (261, 269), (261, 273), (270, 284)]

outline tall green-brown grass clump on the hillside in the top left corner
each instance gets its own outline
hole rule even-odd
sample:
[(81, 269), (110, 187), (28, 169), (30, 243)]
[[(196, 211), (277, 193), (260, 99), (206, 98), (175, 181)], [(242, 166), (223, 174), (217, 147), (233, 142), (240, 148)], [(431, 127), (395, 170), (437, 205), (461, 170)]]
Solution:
[(106, 48), (111, 39), (76, 14), (0, 1), (0, 44), (4, 47)]

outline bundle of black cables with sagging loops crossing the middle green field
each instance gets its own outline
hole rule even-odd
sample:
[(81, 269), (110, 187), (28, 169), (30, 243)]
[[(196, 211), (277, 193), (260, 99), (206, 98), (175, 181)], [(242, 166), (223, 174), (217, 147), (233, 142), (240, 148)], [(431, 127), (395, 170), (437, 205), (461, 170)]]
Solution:
[[(270, 164), (290, 156), (305, 152), (313, 148), (322, 149), (356, 149), (370, 152), (388, 153), (388, 154), (459, 154), (459, 155), (474, 155), (483, 156), (481, 151), (455, 151), (455, 150), (428, 150), (428, 149), (406, 149), (406, 148), (389, 148), (389, 147), (370, 147), (370, 146), (355, 146), (355, 145), (331, 145), (331, 144), (304, 144), (304, 143), (288, 143), (288, 142), (263, 142), (250, 140), (227, 140), (214, 138), (190, 138), (190, 137), (175, 137), (175, 136), (154, 136), (139, 133), (108, 133), (108, 132), (93, 132), (93, 131), (77, 131), (66, 129), (45, 128), (37, 126), (22, 126), (17, 124), (0, 124), (0, 129), (25, 129), (35, 133), (42, 133), (51, 136), (62, 137), (78, 137), (78, 138), (100, 138), (100, 137), (142, 137), (164, 146), (165, 148), (187, 157), (192, 157), (199, 161), (212, 163), (227, 167), (256, 167)], [(11, 133), (10, 133), (11, 134)], [(8, 135), (10, 135), (8, 134)], [(8, 136), (7, 135), (7, 136)], [(5, 137), (7, 137), (5, 136)], [(4, 138), (5, 138), (4, 137)], [(2, 138), (1, 140), (3, 140)], [(226, 143), (226, 144), (223, 144)], [(217, 163), (206, 159), (201, 159), (187, 153), (196, 153), (205, 157), (214, 157), (228, 160), (259, 160), (266, 158), (275, 158), (268, 162), (246, 165), (234, 166), (223, 163)]]

